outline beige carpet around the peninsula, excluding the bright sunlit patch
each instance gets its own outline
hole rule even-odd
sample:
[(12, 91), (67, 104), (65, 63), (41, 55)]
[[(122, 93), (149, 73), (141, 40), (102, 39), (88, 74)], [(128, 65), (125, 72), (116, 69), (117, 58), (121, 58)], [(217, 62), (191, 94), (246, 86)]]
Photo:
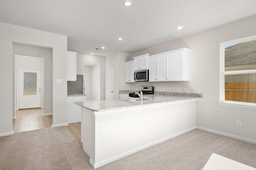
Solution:
[[(256, 168), (256, 145), (195, 129), (98, 170), (201, 170), (216, 153)], [(0, 170), (92, 170), (66, 127), (0, 137)]]

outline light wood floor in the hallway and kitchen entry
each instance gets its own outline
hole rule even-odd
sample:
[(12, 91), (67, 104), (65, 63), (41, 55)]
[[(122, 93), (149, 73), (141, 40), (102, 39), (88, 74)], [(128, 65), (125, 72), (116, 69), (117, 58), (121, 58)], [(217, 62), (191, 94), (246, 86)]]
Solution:
[[(52, 127), (52, 115), (43, 116), (43, 108), (19, 109), (15, 111), (16, 119), (12, 120), (14, 133)], [(81, 142), (81, 122), (68, 123), (66, 126), (79, 145)]]

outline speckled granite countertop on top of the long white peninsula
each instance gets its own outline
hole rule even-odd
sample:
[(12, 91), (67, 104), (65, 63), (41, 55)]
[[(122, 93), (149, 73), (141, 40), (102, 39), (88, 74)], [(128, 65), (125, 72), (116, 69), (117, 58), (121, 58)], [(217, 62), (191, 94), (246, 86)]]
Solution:
[(167, 104), (182, 101), (202, 100), (202, 93), (175, 93), (175, 92), (155, 92), (155, 94), (143, 95), (143, 101), (122, 101), (114, 100), (91, 100), (85, 102), (75, 102), (76, 105), (84, 107), (90, 111), (110, 111), (125, 109), (130, 107), (148, 106), (156, 104)]

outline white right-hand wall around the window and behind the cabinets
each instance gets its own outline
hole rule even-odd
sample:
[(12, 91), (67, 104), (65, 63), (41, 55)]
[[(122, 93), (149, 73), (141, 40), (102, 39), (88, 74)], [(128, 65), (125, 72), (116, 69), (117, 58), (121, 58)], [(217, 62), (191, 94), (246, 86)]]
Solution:
[[(154, 86), (155, 91), (165, 87), (168, 92), (182, 92), (187, 87), (189, 92), (203, 93), (204, 99), (197, 106), (198, 126), (256, 140), (256, 109), (217, 104), (220, 99), (220, 43), (253, 35), (256, 35), (256, 16), (133, 53), (130, 59), (146, 53), (189, 48), (190, 81), (131, 83), (131, 89), (148, 85)], [(242, 121), (242, 127), (236, 126), (236, 120)]]

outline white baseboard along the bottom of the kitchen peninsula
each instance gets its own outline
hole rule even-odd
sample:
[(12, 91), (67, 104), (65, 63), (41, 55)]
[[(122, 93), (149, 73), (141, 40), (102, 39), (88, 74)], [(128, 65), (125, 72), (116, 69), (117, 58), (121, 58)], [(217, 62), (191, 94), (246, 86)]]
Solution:
[(148, 148), (148, 147), (152, 147), (152, 146), (154, 146), (154, 145), (157, 145), (157, 144), (159, 144), (159, 143), (162, 143), (162, 142), (164, 142), (164, 141), (167, 141), (167, 140), (169, 140), (169, 139), (172, 139), (172, 138), (174, 138), (174, 137), (177, 137), (177, 136), (179, 136), (179, 135), (182, 135), (182, 134), (187, 133), (187, 132), (189, 132), (189, 131), (192, 131), (192, 130), (194, 130), (194, 129), (196, 129), (196, 126), (191, 127), (191, 128), (189, 128), (189, 129), (185, 129), (185, 130), (180, 131), (180, 132), (177, 132), (177, 133), (174, 133), (174, 134), (172, 134), (172, 135), (170, 135), (170, 136), (168, 136), (168, 137), (164, 137), (164, 138), (162, 138), (162, 139), (159, 139), (159, 140), (157, 140), (157, 141), (148, 143), (148, 144), (143, 145), (143, 146), (141, 146), (141, 147), (138, 147), (138, 148), (129, 150), (129, 151), (124, 152), (124, 153), (122, 153), (122, 154), (118, 154), (118, 155), (113, 156), (113, 157), (111, 157), (111, 158), (108, 158), (108, 159), (106, 159), (106, 160), (102, 160), (102, 161), (100, 161), (100, 162), (98, 162), (98, 163), (96, 163), (96, 164), (91, 160), (91, 158), (90, 158), (90, 161), (89, 161), (89, 162), (90, 162), (90, 164), (92, 165), (93, 168), (98, 168), (98, 167), (100, 167), (100, 166), (106, 165), (106, 164), (108, 164), (108, 163), (110, 163), (110, 162), (113, 162), (113, 161), (115, 161), (115, 160), (118, 160), (118, 159), (120, 159), (120, 158), (124, 158), (125, 156), (128, 156), (128, 155), (130, 155), (130, 154), (134, 154), (134, 153), (136, 153), (136, 152), (138, 152), (138, 151), (140, 151), (140, 150), (146, 149), (146, 148)]

